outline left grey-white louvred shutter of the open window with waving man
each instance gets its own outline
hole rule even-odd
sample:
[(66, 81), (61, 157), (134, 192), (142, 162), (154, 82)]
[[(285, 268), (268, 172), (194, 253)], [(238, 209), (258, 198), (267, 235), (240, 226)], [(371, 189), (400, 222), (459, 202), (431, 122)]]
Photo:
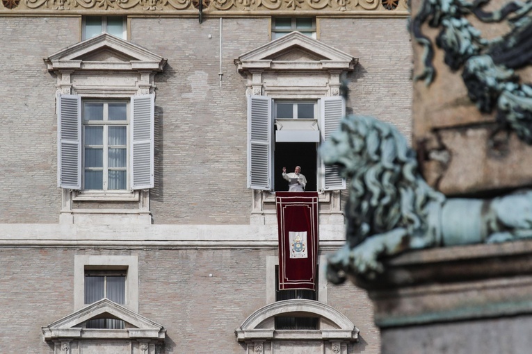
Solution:
[(248, 97), (248, 188), (270, 190), (272, 174), (271, 98)]

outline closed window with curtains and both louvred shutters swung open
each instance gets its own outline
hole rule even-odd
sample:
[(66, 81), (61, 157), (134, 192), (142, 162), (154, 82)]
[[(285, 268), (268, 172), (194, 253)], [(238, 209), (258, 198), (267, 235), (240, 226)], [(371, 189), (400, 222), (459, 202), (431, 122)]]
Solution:
[(87, 191), (152, 188), (154, 95), (131, 101), (58, 101), (58, 187)]

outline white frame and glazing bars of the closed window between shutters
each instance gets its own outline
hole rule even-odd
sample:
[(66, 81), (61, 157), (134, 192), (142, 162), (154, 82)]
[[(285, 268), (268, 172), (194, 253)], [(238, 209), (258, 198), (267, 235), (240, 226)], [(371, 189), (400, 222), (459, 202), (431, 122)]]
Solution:
[[(130, 165), (130, 158), (129, 155), (131, 154), (131, 139), (130, 139), (130, 128), (131, 128), (131, 99), (124, 98), (124, 99), (90, 99), (90, 98), (81, 98), (81, 189), (79, 191), (79, 194), (94, 194), (101, 195), (101, 194), (107, 194), (107, 195), (116, 195), (116, 194), (131, 194), (131, 183), (129, 178), (131, 178), (131, 165)], [(103, 103), (104, 104), (104, 112), (103, 112), (103, 119), (102, 121), (98, 120), (88, 120), (84, 119), (83, 117), (83, 106), (85, 106), (86, 103)], [(108, 104), (109, 103), (126, 103), (126, 120), (125, 121), (110, 121), (108, 120)], [(107, 107), (107, 109), (106, 109)], [(106, 119), (107, 118), (107, 119)], [(103, 156), (102, 156), (102, 189), (86, 189), (85, 187), (85, 171), (86, 171), (86, 157), (85, 157), (85, 148), (86, 148), (86, 138), (85, 138), (85, 129), (87, 126), (103, 126)], [(125, 126), (126, 127), (126, 188), (125, 189), (108, 189), (108, 127), (109, 126)]]

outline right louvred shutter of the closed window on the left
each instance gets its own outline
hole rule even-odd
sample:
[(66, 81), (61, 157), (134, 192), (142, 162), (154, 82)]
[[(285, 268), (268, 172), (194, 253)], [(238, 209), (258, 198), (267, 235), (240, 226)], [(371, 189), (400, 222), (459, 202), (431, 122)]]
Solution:
[(131, 189), (154, 187), (154, 94), (131, 97)]

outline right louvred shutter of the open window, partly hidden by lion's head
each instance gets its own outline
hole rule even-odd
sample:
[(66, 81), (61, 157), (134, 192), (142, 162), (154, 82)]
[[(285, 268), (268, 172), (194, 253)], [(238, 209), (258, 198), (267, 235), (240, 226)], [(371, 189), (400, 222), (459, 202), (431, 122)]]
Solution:
[[(321, 137), (326, 142), (329, 137), (340, 128), (341, 118), (346, 115), (346, 102), (342, 96), (324, 97), (321, 99)], [(325, 174), (321, 177), (324, 190), (345, 189), (346, 180), (338, 174), (337, 166), (325, 166)]]

